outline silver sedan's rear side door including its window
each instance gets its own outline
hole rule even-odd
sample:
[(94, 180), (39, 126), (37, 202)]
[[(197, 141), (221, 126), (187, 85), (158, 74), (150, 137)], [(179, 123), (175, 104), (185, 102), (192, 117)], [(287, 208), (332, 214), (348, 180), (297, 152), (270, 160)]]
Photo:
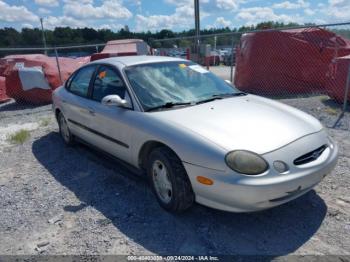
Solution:
[(89, 131), (93, 121), (93, 109), (91, 108), (90, 85), (95, 74), (97, 65), (89, 65), (77, 71), (67, 82), (67, 96), (65, 97), (64, 115), (69, 129), (73, 134), (91, 142), (93, 133)]

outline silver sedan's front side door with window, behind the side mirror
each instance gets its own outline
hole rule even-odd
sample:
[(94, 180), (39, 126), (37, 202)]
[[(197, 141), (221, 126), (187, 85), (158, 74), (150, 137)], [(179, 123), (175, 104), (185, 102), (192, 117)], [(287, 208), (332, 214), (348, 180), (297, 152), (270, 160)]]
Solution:
[(119, 95), (132, 105), (129, 92), (119, 71), (109, 65), (100, 65), (92, 81), (91, 102), (94, 108), (91, 128), (95, 131), (93, 143), (110, 154), (129, 162), (130, 121), (136, 112), (132, 106), (121, 108), (101, 103), (107, 95)]

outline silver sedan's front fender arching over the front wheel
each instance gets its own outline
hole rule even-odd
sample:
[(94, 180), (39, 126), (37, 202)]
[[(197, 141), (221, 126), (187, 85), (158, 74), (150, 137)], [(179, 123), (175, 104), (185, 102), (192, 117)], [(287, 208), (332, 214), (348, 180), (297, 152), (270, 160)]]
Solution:
[(132, 163), (139, 167), (139, 154), (143, 145), (156, 141), (173, 150), (182, 162), (224, 171), (227, 150), (199, 134), (152, 116), (152, 113), (137, 114), (132, 129)]

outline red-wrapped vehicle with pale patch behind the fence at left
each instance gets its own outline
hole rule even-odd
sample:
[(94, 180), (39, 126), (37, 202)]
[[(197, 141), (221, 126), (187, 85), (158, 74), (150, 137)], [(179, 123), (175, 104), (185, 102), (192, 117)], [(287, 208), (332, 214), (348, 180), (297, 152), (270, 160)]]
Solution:
[[(59, 58), (64, 82), (86, 58)], [(6, 76), (7, 95), (16, 101), (45, 104), (52, 101), (52, 91), (62, 83), (56, 58), (45, 55), (13, 55), (1, 59), (0, 73)]]

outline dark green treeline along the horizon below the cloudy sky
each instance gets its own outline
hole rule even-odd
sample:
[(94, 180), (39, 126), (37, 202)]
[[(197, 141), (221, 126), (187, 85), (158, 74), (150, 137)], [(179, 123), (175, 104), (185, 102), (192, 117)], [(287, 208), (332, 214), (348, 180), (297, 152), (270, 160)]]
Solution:
[[(201, 30), (202, 35), (213, 35), (220, 33), (237, 33), (232, 35), (222, 35), (217, 37), (217, 46), (228, 46), (232, 44), (232, 38), (234, 43), (238, 43), (241, 33), (253, 30), (264, 30), (270, 28), (286, 28), (299, 26), (297, 23), (273, 22), (266, 21), (257, 25), (242, 26), (239, 28), (210, 28)], [(314, 24), (306, 24), (306, 26), (314, 26)], [(349, 29), (332, 29), (333, 32), (340, 34), (344, 37), (350, 38)], [(194, 29), (184, 30), (181, 32), (173, 32), (168, 29), (163, 29), (158, 32), (130, 32), (127, 27), (120, 29), (117, 32), (113, 32), (109, 29), (95, 30), (93, 28), (77, 28), (72, 29), (70, 27), (56, 27), (54, 30), (45, 30), (47, 44), (49, 46), (55, 45), (74, 45), (74, 44), (88, 44), (88, 43), (105, 43), (114, 39), (126, 39), (126, 38), (138, 38), (148, 42), (154, 48), (166, 47), (172, 48), (175, 45), (178, 47), (188, 47), (193, 45), (193, 39), (180, 39), (180, 40), (167, 40), (167, 41), (154, 41), (174, 37), (182, 36), (194, 36)], [(214, 45), (213, 37), (205, 37), (202, 39), (202, 43), (208, 43)], [(42, 46), (41, 30), (38, 28), (30, 29), (24, 28), (20, 32), (13, 28), (0, 29), (0, 46), (1, 47), (33, 47)], [(89, 51), (90, 52), (90, 51)]]

